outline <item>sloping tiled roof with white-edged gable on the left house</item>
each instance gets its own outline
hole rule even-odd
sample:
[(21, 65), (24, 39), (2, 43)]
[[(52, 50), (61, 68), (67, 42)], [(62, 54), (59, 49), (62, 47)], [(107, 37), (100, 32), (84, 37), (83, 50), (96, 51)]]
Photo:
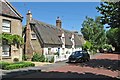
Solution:
[(3, 15), (19, 18), (22, 20), (22, 16), (18, 11), (7, 1), (1, 2), (0, 1), (1, 12)]

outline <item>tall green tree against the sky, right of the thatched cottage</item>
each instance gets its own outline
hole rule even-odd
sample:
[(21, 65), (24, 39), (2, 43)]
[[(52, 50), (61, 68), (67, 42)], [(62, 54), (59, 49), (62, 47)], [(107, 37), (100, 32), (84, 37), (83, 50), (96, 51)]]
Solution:
[(93, 48), (98, 48), (105, 44), (105, 30), (104, 26), (100, 23), (100, 17), (97, 17), (95, 20), (86, 17), (82, 27), (81, 32), (85, 40), (89, 41)]

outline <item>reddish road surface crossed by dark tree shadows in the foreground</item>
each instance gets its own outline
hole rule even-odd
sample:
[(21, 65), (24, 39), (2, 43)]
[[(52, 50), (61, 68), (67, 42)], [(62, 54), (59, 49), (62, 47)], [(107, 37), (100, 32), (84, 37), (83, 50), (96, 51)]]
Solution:
[(58, 62), (38, 66), (41, 71), (14, 78), (119, 78), (119, 58), (120, 54), (101, 54), (85, 63)]

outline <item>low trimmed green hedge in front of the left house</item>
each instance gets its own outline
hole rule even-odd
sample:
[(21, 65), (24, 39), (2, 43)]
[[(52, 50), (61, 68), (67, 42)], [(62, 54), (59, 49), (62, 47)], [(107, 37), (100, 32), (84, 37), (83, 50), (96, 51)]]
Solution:
[[(10, 63), (10, 64), (7, 62), (3, 62), (3, 64), (5, 64), (5, 65), (4, 65), (4, 67), (2, 67), (2, 69), (5, 69), (5, 70), (35, 66), (35, 64), (31, 63), (31, 62), (18, 62), (18, 63)], [(3, 64), (2, 64), (2, 66), (3, 66)]]

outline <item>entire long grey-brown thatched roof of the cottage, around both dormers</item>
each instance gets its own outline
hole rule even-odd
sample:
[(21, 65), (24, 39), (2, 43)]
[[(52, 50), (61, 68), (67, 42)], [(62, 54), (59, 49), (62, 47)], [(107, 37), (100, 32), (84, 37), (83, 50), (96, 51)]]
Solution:
[[(33, 24), (33, 25), (32, 25)], [(75, 35), (75, 46), (81, 46), (82, 41), (78, 34), (73, 33), (68, 30), (57, 28), (56, 26), (46, 24), (37, 20), (31, 21), (31, 27), (34, 28), (35, 33), (37, 34), (38, 39), (42, 41), (43, 44), (49, 45), (62, 45), (62, 41), (60, 39), (62, 32), (65, 34), (65, 45), (72, 47), (71, 37), (72, 34)]]

